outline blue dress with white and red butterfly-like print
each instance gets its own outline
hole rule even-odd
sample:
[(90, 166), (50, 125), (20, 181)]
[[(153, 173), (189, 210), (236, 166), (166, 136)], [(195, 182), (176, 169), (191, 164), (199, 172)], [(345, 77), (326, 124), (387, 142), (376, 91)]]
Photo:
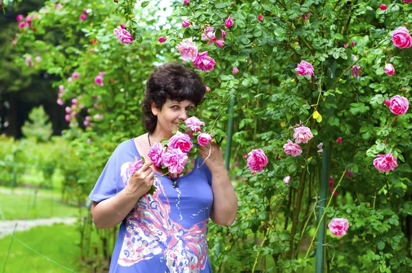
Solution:
[[(135, 155), (140, 158), (133, 139), (119, 144), (89, 198), (100, 202), (123, 190)], [(211, 173), (205, 164), (196, 168), (198, 163), (203, 160), (177, 179), (176, 188), (168, 177), (155, 177), (155, 194), (143, 195), (122, 221), (110, 273), (211, 273), (206, 237)]]

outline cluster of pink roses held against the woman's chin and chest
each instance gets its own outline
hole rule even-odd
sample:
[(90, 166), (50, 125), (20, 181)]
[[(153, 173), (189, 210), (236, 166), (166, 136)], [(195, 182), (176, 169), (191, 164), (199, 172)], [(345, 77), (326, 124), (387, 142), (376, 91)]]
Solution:
[(168, 140), (168, 144), (162, 147), (159, 142), (155, 142), (149, 149), (148, 157), (157, 167), (164, 166), (168, 168), (169, 173), (179, 175), (182, 173), (187, 159), (187, 155), (196, 144), (205, 146), (211, 142), (211, 135), (203, 132), (201, 126), (205, 126), (195, 116), (185, 120), (187, 129), (185, 133), (177, 131), (176, 134)]

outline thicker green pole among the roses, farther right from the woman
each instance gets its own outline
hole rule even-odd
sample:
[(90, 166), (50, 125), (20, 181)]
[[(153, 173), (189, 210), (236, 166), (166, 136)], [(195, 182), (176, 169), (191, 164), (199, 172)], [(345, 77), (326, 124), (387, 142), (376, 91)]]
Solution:
[[(322, 218), (323, 208), (326, 206), (326, 195), (328, 194), (329, 182), (329, 165), (330, 165), (330, 145), (323, 146), (322, 171), (321, 171), (321, 190), (319, 193), (319, 219)], [(324, 267), (324, 239), (325, 239), (325, 217), (323, 217), (321, 226), (317, 234), (316, 246), (316, 267), (315, 273), (323, 273)]]

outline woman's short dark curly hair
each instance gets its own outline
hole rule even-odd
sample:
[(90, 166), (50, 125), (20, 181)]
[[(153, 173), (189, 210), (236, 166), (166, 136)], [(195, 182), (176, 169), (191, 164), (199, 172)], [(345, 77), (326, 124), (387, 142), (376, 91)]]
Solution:
[(144, 127), (150, 133), (156, 129), (157, 116), (152, 113), (151, 102), (155, 102), (159, 110), (165, 104), (166, 99), (178, 102), (190, 100), (197, 106), (205, 96), (205, 91), (201, 77), (193, 69), (181, 63), (165, 63), (156, 67), (149, 76), (144, 92)]

